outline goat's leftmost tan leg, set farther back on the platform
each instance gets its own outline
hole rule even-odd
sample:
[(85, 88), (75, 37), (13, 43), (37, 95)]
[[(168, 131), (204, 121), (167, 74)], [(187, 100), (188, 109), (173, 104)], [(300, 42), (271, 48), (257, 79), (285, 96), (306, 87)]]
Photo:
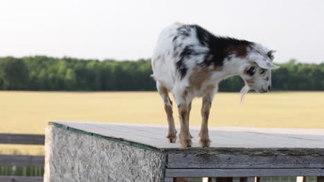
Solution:
[(163, 99), (164, 102), (164, 110), (165, 113), (167, 114), (168, 118), (168, 124), (169, 124), (169, 131), (168, 131), (168, 141), (170, 143), (175, 143), (177, 140), (177, 130), (175, 129), (174, 126), (174, 119), (173, 119), (173, 112), (172, 112), (172, 101), (169, 97), (168, 89), (165, 88), (161, 83), (158, 81), (156, 82), (156, 88), (159, 91), (160, 96)]

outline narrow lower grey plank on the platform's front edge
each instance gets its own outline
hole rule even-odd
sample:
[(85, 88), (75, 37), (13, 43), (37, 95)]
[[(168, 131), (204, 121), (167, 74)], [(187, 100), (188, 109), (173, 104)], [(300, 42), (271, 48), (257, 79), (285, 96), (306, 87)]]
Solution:
[(324, 176), (323, 168), (313, 169), (166, 169), (166, 177), (240, 176)]

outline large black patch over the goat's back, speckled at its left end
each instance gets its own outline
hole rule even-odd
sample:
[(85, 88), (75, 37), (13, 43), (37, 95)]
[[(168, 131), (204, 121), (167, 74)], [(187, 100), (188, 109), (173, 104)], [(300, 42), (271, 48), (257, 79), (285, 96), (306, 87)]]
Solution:
[[(192, 32), (195, 32), (195, 34), (192, 34)], [(195, 45), (181, 46), (184, 39), (192, 39), (192, 37), (199, 41), (200, 47), (208, 48), (206, 49), (208, 51), (198, 52), (195, 50)], [(177, 34), (175, 34), (172, 39), (172, 45), (174, 57), (179, 56), (175, 64), (182, 79), (188, 72), (186, 61), (191, 56), (204, 54), (204, 60), (199, 61), (200, 66), (213, 65), (215, 67), (220, 67), (223, 65), (224, 59), (230, 59), (230, 55), (232, 54), (235, 54), (237, 57), (244, 57), (247, 54), (247, 48), (251, 47), (253, 43), (230, 37), (217, 37), (200, 26), (185, 25), (177, 29)]]

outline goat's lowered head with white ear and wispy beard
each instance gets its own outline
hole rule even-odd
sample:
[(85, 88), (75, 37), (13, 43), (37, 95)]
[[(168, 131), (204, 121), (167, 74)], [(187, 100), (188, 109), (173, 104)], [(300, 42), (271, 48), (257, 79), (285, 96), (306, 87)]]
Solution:
[(271, 89), (271, 70), (279, 68), (272, 63), (275, 50), (267, 50), (258, 46), (251, 48), (246, 55), (246, 63), (243, 66), (241, 77), (245, 86), (241, 92), (245, 94), (249, 90), (259, 93), (268, 92)]

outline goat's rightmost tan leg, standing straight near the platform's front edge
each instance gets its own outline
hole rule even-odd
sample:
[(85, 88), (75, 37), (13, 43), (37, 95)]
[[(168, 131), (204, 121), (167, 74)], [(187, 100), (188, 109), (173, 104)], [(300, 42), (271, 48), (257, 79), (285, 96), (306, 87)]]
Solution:
[(211, 107), (212, 99), (210, 97), (203, 97), (202, 106), (201, 106), (201, 129), (199, 132), (199, 144), (201, 147), (209, 147), (210, 146), (210, 139), (208, 134), (208, 118), (209, 118), (209, 111)]

